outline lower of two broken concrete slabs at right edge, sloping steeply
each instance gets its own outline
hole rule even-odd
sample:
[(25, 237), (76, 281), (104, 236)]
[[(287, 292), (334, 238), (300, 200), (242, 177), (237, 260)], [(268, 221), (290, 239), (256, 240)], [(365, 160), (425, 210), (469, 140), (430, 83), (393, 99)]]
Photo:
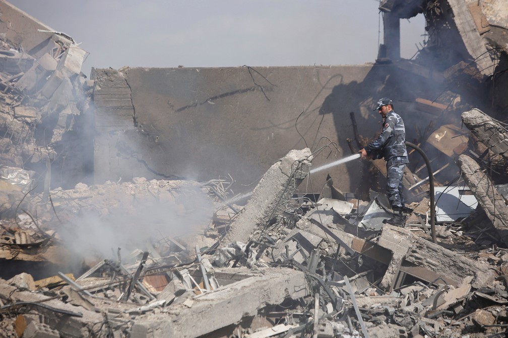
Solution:
[(487, 173), (471, 157), (460, 155), (457, 162), (464, 180), (492, 221), (500, 239), (508, 243), (508, 207), (504, 198), (497, 192)]

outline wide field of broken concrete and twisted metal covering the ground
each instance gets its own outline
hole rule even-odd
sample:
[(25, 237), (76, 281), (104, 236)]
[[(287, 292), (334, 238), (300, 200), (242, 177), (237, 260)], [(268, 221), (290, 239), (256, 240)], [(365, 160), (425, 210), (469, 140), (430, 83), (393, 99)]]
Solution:
[[(2, 223), (2, 260), (38, 258), (33, 274), (0, 283), (3, 335), (505, 334), (508, 249), (495, 219), (479, 209), (438, 224), (433, 243), (427, 199), (399, 228), (378, 221), (391, 212), (383, 194), (370, 201), (294, 195), (311, 160), (309, 149), (290, 152), (243, 206), (228, 202), (235, 199), (225, 179), (137, 178), (80, 183), (46, 200), (27, 195), (31, 209)], [(473, 187), (463, 171), (482, 194), (484, 183)], [(471, 225), (479, 220), (492, 221), (488, 245), (477, 243), (486, 233)], [(133, 224), (142, 231), (123, 238)], [(86, 257), (79, 269), (78, 257)], [(37, 277), (47, 269), (52, 277)]]

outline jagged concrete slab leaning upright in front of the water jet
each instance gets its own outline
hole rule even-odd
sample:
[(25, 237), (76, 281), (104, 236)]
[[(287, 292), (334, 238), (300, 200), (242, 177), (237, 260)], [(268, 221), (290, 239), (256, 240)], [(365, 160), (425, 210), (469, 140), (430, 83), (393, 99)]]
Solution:
[(231, 223), (226, 242), (243, 242), (259, 226), (265, 226), (287, 207), (296, 188), (309, 174), (312, 154), (309, 148), (293, 150), (275, 162), (263, 175), (252, 196)]

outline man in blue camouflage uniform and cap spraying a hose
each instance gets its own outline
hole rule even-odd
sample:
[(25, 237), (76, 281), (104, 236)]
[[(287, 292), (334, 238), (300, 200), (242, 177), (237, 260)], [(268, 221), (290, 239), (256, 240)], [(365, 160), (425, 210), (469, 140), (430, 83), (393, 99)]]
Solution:
[(393, 110), (393, 102), (387, 97), (379, 99), (374, 110), (384, 118), (383, 131), (372, 142), (359, 152), (362, 158), (385, 158), (387, 176), (387, 195), (393, 209), (393, 217), (385, 219), (384, 223), (404, 226), (405, 213), (410, 209), (404, 206), (402, 196), (402, 176), (407, 160), (406, 131), (404, 121)]

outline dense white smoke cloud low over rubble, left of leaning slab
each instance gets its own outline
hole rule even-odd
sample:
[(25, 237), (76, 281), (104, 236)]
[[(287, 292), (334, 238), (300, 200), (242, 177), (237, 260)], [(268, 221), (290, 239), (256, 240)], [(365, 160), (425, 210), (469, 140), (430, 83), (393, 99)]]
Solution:
[[(103, 195), (87, 199), (88, 207), (81, 208), (61, 227), (59, 235), (70, 250), (86, 258), (111, 257), (112, 252), (116, 258), (117, 248), (127, 255), (136, 249), (145, 250), (147, 243), (170, 242), (167, 237), (185, 245), (209, 225), (213, 205), (197, 187), (189, 189), (188, 183), (180, 183), (183, 187), (176, 187), (176, 193), (161, 189), (155, 191), (155, 198), (140, 197), (146, 186), (125, 194), (134, 184), (112, 184)], [(148, 187), (152, 190), (153, 184)]]

